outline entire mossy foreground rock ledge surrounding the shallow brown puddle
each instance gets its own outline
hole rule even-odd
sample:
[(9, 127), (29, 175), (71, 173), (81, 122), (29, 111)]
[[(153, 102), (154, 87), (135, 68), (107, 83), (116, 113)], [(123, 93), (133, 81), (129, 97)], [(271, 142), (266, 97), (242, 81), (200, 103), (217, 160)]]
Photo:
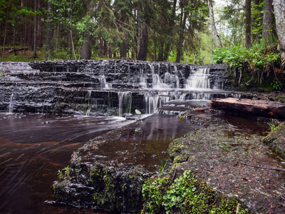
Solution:
[[(120, 154), (123, 159), (104, 160), (101, 146), (123, 138), (128, 127), (121, 128), (73, 153), (53, 184), (56, 200), (111, 213), (284, 213), (285, 162), (261, 135), (239, 131), (215, 113), (187, 114), (202, 128), (170, 143), (168, 170), (155, 173), (128, 163), (128, 151)], [(136, 130), (140, 123), (129, 126)], [(270, 136), (266, 142), (284, 138)]]

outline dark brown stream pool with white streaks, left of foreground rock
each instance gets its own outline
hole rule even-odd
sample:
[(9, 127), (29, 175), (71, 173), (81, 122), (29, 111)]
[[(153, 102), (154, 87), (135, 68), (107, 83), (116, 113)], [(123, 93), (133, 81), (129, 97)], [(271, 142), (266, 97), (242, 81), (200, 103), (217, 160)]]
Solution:
[(71, 153), (123, 118), (0, 114), (0, 213), (88, 213), (55, 208), (51, 185)]

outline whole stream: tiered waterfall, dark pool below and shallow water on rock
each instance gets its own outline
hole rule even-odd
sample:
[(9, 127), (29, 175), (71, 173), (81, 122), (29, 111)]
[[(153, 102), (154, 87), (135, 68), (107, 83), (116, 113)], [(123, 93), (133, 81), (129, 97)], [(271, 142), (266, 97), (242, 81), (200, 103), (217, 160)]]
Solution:
[[(58, 170), (66, 168), (73, 151), (91, 138), (130, 123), (123, 116), (135, 109), (152, 114), (172, 100), (238, 96), (224, 91), (224, 68), (63, 61), (0, 63), (0, 70), (4, 73), (0, 78), (0, 213), (94, 213), (47, 202), (53, 200), (51, 185)], [(61, 116), (65, 114), (76, 116)], [(227, 120), (239, 126), (237, 118), (227, 116)], [(258, 127), (252, 121), (249, 126), (242, 123), (248, 130)], [(197, 126), (155, 114), (138, 130), (143, 133), (140, 138), (125, 136), (125, 142), (147, 157), (134, 156), (134, 162), (156, 165), (150, 160), (167, 159), (169, 143), (191, 128)], [(120, 148), (130, 150), (123, 144)], [(111, 156), (115, 152), (108, 151)]]

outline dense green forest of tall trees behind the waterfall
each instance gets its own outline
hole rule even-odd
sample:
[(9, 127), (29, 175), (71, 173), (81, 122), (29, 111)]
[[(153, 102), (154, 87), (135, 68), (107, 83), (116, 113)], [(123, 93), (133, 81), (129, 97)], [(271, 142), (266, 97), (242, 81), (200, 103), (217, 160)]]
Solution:
[(284, 17), (283, 0), (1, 0), (0, 59), (226, 62), (264, 71), (279, 63), (281, 69)]

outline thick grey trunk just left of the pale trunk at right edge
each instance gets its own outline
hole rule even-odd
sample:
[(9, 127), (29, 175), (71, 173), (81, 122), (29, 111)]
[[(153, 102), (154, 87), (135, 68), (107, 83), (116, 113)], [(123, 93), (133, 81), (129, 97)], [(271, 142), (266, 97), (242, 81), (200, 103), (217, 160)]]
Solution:
[(264, 16), (262, 22), (262, 39), (265, 39), (267, 42), (271, 37), (271, 18), (272, 18), (272, 0), (266, 0), (266, 4), (264, 4)]

